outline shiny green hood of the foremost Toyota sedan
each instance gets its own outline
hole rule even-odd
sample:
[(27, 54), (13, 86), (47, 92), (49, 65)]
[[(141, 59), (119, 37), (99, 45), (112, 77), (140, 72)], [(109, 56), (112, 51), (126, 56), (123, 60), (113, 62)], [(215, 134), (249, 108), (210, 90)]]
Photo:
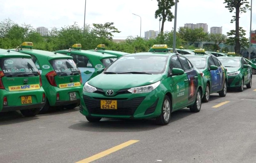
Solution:
[(162, 74), (99, 74), (88, 84), (100, 89), (129, 89), (153, 84), (163, 79)]

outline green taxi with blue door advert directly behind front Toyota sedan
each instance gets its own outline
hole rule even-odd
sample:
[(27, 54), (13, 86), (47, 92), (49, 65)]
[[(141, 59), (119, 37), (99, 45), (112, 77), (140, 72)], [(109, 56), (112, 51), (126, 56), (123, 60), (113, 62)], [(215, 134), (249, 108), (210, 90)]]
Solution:
[(218, 92), (219, 96), (227, 94), (227, 70), (220, 60), (213, 55), (207, 55), (204, 49), (195, 49), (196, 54), (186, 55), (192, 64), (203, 73), (205, 95), (203, 102), (208, 102), (210, 94)]

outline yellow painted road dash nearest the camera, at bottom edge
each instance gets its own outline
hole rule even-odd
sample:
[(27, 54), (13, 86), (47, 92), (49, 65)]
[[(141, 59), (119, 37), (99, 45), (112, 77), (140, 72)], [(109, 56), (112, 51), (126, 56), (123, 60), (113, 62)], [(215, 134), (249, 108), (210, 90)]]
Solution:
[(110, 153), (116, 152), (116, 151), (118, 151), (118, 150), (120, 150), (120, 149), (122, 149), (124, 147), (127, 147), (129, 145), (137, 143), (138, 141), (140, 141), (140, 140), (129, 140), (127, 142), (124, 142), (124, 143), (122, 143), (120, 145), (116, 145), (116, 146), (114, 146), (114, 147), (112, 147), (110, 149), (107, 149), (106, 151), (100, 152), (98, 154), (95, 154), (95, 155), (93, 155), (91, 157), (88, 157), (88, 158), (83, 159), (81, 161), (78, 161), (76, 163), (88, 163), (88, 162), (95, 161), (96, 159), (100, 159), (101, 157), (107, 156)]

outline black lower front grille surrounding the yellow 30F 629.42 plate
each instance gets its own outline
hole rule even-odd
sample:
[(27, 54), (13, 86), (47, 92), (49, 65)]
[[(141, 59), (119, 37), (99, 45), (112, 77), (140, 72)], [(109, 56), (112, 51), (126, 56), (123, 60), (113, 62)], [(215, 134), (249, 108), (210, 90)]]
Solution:
[[(137, 97), (131, 100), (108, 99), (117, 100), (116, 110), (100, 109), (100, 99), (93, 99), (89, 96), (84, 96), (84, 103), (90, 114), (105, 114), (105, 115), (129, 115), (132, 116), (135, 110), (145, 97)], [(102, 99), (103, 100), (103, 99)]]

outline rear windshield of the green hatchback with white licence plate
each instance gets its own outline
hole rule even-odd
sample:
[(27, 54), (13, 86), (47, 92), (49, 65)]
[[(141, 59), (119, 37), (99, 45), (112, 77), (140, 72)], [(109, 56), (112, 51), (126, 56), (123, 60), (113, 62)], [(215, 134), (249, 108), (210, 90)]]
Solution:
[(50, 60), (52, 68), (58, 76), (78, 75), (79, 70), (71, 59)]

